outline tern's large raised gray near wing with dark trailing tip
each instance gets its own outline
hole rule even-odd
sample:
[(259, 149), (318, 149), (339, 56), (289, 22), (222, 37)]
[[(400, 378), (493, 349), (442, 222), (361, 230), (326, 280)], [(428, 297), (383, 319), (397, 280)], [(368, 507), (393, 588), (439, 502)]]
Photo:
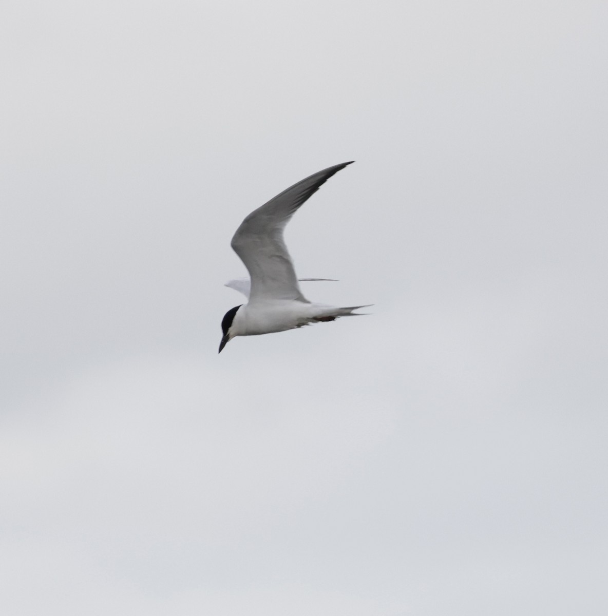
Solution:
[(241, 257), (251, 278), (249, 303), (265, 299), (308, 301), (302, 295), (283, 229), (293, 214), (334, 173), (348, 163), (336, 164), (283, 190), (241, 222), (232, 238), (232, 248)]

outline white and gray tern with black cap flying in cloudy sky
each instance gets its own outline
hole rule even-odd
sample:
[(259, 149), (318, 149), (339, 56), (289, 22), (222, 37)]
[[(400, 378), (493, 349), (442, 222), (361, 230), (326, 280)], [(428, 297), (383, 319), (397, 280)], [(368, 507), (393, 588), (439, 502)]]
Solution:
[(224, 315), (219, 353), (235, 336), (270, 334), (338, 317), (355, 317), (361, 313), (353, 310), (371, 306), (338, 307), (310, 302), (302, 294), (298, 280), (327, 279), (298, 279), (283, 240), (285, 225), (304, 201), (333, 174), (353, 162), (336, 164), (306, 177), (241, 222), (230, 245), (245, 264), (249, 280), (231, 280), (226, 286), (245, 294), (248, 303), (235, 306)]

